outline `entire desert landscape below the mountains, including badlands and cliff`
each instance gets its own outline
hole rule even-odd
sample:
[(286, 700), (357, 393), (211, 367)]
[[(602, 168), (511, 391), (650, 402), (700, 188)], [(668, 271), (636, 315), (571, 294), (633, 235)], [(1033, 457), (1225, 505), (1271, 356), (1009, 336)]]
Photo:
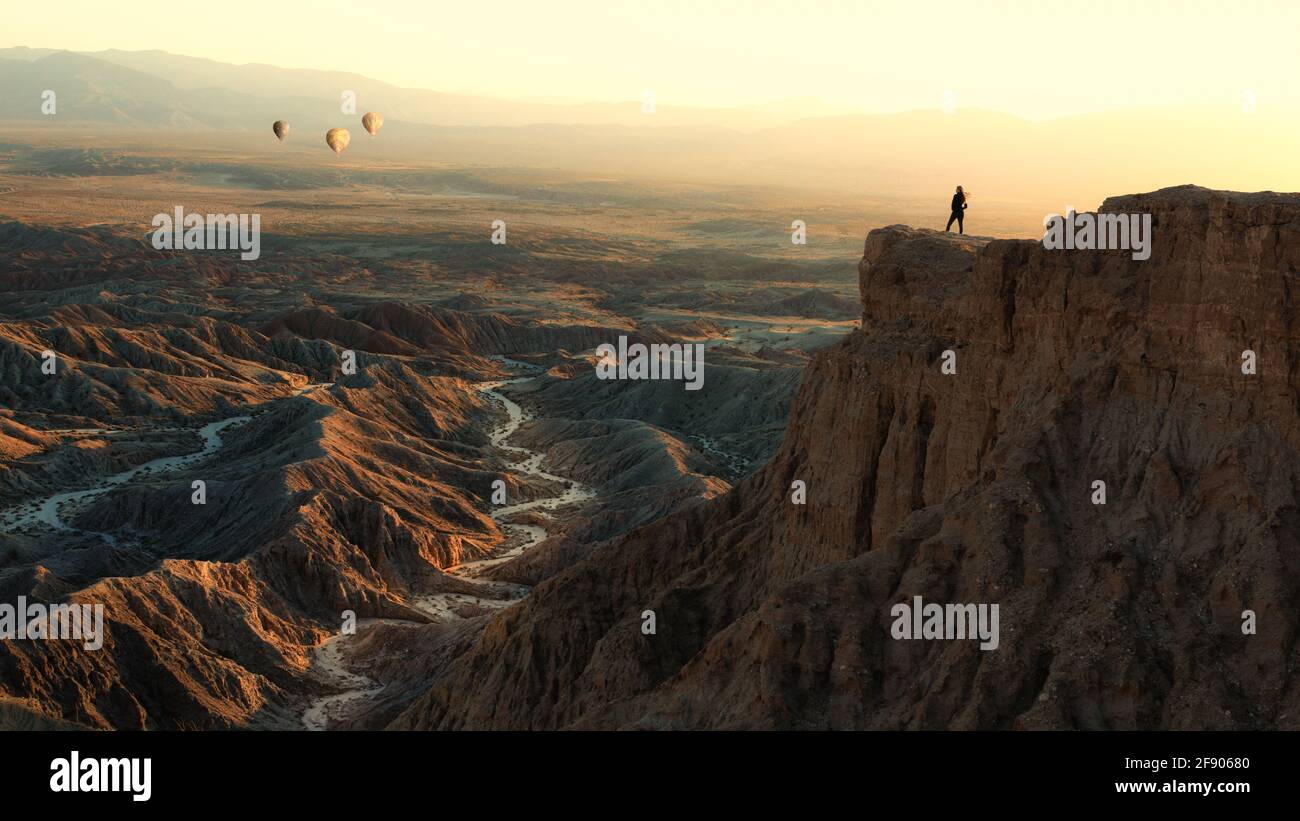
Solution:
[[(3, 726), (1297, 726), (1297, 195), (1106, 200), (1135, 261), (47, 136), (0, 147), (0, 601), (107, 635), (0, 643)], [(155, 249), (176, 207), (260, 259)], [(702, 390), (598, 379), (619, 336)], [(997, 651), (893, 640), (913, 596), (998, 604)]]

